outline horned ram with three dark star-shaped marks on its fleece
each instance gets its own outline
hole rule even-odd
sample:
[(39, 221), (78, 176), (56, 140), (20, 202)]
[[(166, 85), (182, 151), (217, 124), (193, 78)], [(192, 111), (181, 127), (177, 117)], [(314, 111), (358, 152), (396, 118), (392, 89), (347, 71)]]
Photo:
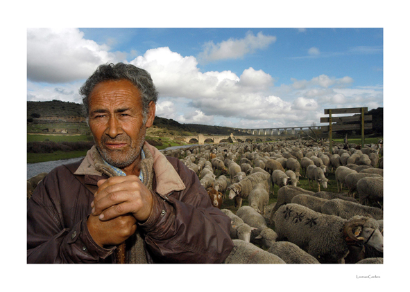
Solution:
[(281, 206), (275, 212), (277, 241), (296, 244), (322, 264), (343, 263), (352, 242), (367, 242), (383, 250), (383, 235), (373, 218), (343, 219), (315, 212), (298, 204)]

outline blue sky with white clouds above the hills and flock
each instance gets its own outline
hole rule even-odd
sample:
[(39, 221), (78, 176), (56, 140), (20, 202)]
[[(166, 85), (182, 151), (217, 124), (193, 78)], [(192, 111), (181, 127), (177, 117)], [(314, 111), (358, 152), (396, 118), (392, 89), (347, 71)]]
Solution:
[(383, 107), (384, 29), (27, 28), (27, 100), (81, 103), (97, 66), (146, 69), (156, 115), (245, 129), (307, 127)]

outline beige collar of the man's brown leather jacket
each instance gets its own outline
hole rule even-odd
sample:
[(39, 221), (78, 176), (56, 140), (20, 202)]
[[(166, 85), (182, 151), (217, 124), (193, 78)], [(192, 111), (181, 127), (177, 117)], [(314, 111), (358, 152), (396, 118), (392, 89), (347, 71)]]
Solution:
[[(185, 190), (185, 184), (182, 182), (178, 172), (173, 168), (168, 159), (157, 148), (149, 145), (144, 141), (144, 145), (149, 149), (154, 158), (154, 173), (157, 181), (156, 192), (158, 194), (169, 194), (173, 191)], [(95, 147), (95, 145), (93, 146)], [(80, 164), (74, 174), (85, 176), (102, 176), (94, 167), (94, 160), (92, 159), (92, 150), (89, 149), (83, 162)]]

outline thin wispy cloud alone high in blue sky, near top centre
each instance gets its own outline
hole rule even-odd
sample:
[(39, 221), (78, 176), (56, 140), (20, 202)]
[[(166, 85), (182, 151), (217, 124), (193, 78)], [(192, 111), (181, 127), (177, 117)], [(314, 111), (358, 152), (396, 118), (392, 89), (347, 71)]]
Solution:
[(257, 33), (256, 36), (253, 33), (247, 33), (244, 39), (228, 39), (219, 44), (210, 41), (204, 45), (204, 51), (198, 55), (198, 59), (202, 62), (238, 59), (257, 49), (267, 48), (275, 41), (276, 37), (264, 35), (262, 32)]

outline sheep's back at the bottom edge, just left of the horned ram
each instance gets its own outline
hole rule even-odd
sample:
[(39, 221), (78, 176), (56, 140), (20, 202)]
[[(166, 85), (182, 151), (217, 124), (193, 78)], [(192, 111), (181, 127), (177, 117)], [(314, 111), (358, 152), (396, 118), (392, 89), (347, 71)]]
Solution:
[(277, 241), (268, 249), (287, 264), (320, 264), (317, 259), (289, 241)]

